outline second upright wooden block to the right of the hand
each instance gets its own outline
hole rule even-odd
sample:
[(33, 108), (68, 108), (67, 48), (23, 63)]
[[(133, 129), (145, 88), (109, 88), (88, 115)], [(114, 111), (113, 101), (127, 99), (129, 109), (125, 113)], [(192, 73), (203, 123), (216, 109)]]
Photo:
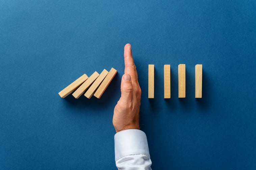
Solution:
[(164, 98), (171, 98), (171, 66), (163, 66)]

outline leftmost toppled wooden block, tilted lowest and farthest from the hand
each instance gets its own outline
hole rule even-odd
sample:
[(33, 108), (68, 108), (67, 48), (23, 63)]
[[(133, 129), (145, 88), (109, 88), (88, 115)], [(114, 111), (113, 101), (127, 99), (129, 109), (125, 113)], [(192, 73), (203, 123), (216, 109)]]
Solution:
[(59, 92), (59, 96), (62, 98), (67, 97), (70, 93), (72, 93), (75, 89), (77, 89), (85, 80), (88, 79), (86, 74), (82, 75), (78, 79), (76, 79), (73, 83), (68, 85), (66, 88)]

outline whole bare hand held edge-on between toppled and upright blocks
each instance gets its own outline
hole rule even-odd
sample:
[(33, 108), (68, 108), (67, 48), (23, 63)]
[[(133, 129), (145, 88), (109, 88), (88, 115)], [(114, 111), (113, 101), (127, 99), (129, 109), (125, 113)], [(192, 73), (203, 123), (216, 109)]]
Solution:
[(116, 132), (139, 128), (141, 89), (131, 52), (131, 45), (124, 47), (125, 70), (121, 82), (121, 97), (114, 108), (113, 125)]

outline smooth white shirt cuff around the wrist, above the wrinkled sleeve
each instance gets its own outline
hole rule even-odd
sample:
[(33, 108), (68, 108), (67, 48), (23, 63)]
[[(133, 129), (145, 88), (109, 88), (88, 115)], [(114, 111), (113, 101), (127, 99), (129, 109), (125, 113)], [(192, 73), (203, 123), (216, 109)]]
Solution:
[(130, 154), (145, 154), (150, 158), (147, 136), (137, 129), (128, 129), (116, 133), (115, 160)]

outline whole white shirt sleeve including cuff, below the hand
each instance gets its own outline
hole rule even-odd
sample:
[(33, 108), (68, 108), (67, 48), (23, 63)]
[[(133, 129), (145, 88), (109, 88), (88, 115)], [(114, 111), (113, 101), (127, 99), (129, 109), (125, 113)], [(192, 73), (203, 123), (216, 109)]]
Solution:
[(116, 133), (115, 160), (119, 170), (151, 170), (147, 136), (137, 129)]

